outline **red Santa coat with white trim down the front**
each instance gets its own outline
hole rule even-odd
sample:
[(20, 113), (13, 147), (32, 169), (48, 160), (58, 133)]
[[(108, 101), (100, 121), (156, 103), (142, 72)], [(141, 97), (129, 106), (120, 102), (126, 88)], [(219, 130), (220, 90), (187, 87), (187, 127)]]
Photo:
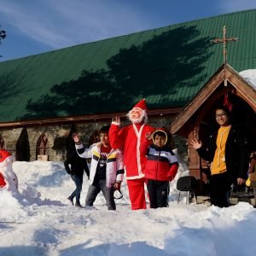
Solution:
[(147, 134), (154, 131), (150, 125), (128, 125), (120, 129), (112, 124), (109, 130), (109, 142), (112, 148), (123, 148), (126, 179), (144, 177), (147, 158), (140, 147), (148, 147)]

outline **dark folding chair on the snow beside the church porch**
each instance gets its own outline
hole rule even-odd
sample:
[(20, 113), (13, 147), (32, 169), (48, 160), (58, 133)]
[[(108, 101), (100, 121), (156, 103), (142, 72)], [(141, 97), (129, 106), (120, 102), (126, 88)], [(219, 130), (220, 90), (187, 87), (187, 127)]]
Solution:
[(189, 196), (191, 193), (193, 193), (195, 195), (195, 202), (196, 202), (195, 189), (196, 189), (196, 178), (195, 177), (193, 177), (193, 176), (179, 177), (177, 179), (177, 190), (179, 190), (177, 204), (179, 202), (181, 192), (187, 192), (186, 205), (189, 205)]

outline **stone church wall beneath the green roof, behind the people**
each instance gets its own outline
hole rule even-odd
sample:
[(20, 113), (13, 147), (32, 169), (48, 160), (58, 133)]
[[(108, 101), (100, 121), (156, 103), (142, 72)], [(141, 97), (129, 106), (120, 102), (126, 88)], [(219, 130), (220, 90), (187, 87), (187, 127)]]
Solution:
[[(149, 125), (154, 127), (169, 126), (171, 118), (160, 117), (150, 118)], [(122, 125), (130, 124), (129, 121), (122, 122)], [(109, 122), (92, 121), (90, 123), (75, 124), (75, 129), (79, 132), (81, 141), (88, 145), (91, 134), (99, 130), (102, 125), (110, 125)], [(37, 160), (37, 144), (38, 139), (42, 134), (48, 138), (49, 149), (47, 152), (48, 160), (50, 161), (63, 161), (67, 157), (67, 143), (68, 136), (73, 129), (73, 124), (67, 125), (38, 125), (37, 127), (23, 127), (14, 129), (1, 129), (0, 137), (3, 137), (4, 148), (19, 158), (19, 150), (21, 154), (23, 151), (28, 151), (28, 160)], [(187, 160), (187, 147), (185, 140), (182, 137), (173, 137), (175, 148), (183, 155), (183, 159)], [(18, 148), (18, 150), (17, 150)], [(24, 148), (24, 149), (23, 149)], [(23, 154), (23, 159), (24, 159)], [(21, 157), (22, 159), (22, 157)], [(26, 158), (25, 158), (26, 159)]]

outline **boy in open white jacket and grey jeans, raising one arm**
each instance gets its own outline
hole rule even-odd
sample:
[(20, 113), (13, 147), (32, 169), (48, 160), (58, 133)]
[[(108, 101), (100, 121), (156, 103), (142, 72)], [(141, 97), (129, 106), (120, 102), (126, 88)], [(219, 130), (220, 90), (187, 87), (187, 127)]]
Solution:
[(116, 209), (113, 192), (120, 189), (125, 171), (122, 152), (110, 147), (109, 128), (110, 126), (106, 125), (100, 129), (100, 142), (91, 145), (90, 148), (84, 148), (79, 135), (73, 134), (79, 156), (91, 158), (90, 187), (85, 199), (85, 207), (92, 207), (96, 196), (102, 191), (108, 210)]

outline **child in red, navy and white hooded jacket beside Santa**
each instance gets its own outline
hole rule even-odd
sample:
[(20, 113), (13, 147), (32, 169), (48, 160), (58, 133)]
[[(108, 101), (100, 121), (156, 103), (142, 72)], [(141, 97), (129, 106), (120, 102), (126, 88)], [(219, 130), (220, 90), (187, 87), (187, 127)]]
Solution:
[(145, 168), (150, 207), (168, 207), (169, 182), (177, 174), (177, 157), (166, 131), (154, 131), (152, 139)]

